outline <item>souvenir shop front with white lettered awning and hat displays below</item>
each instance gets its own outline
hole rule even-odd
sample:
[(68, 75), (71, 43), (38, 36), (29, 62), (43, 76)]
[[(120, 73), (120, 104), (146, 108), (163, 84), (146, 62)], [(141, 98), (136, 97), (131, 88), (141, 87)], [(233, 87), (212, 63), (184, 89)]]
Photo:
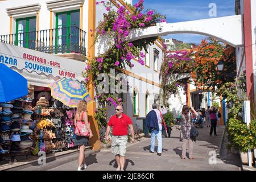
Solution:
[(28, 82), (27, 96), (0, 103), (0, 157), (73, 148), (76, 108), (53, 98), (49, 84), (64, 77), (82, 82), (86, 63), (0, 43), (0, 64)]

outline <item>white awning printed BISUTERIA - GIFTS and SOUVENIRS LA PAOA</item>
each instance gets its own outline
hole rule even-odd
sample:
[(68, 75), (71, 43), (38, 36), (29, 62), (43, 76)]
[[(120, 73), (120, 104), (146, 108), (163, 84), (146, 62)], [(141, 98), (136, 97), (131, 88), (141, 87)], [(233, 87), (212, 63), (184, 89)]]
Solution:
[(28, 72), (82, 81), (86, 63), (0, 42), (0, 63)]

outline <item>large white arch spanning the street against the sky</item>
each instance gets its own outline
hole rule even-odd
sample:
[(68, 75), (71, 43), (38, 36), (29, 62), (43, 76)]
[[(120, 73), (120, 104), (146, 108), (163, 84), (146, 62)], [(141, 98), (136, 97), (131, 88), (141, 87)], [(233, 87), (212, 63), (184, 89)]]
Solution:
[(157, 23), (153, 27), (132, 30), (129, 39), (134, 41), (169, 34), (200, 34), (216, 38), (233, 47), (241, 47), (243, 46), (242, 16), (224, 16), (178, 23)]

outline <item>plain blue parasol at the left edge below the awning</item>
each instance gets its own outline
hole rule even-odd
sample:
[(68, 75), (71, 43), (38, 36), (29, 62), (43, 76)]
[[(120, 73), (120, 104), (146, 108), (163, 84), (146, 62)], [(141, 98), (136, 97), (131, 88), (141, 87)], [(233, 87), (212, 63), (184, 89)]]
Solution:
[(0, 64), (0, 102), (13, 101), (27, 94), (26, 78), (5, 64)]

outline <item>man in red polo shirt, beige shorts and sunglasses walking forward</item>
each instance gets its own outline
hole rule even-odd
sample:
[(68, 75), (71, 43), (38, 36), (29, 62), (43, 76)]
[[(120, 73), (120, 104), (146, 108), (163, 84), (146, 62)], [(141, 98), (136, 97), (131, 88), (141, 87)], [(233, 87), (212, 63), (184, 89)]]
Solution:
[(118, 105), (115, 108), (115, 115), (109, 119), (108, 127), (106, 129), (107, 140), (110, 140), (109, 132), (111, 127), (113, 127), (111, 147), (112, 152), (115, 155), (115, 160), (117, 160), (117, 171), (124, 171), (123, 167), (125, 167), (128, 127), (130, 127), (131, 130), (131, 142), (134, 142), (134, 129), (131, 118), (126, 114), (123, 114), (123, 106)]

